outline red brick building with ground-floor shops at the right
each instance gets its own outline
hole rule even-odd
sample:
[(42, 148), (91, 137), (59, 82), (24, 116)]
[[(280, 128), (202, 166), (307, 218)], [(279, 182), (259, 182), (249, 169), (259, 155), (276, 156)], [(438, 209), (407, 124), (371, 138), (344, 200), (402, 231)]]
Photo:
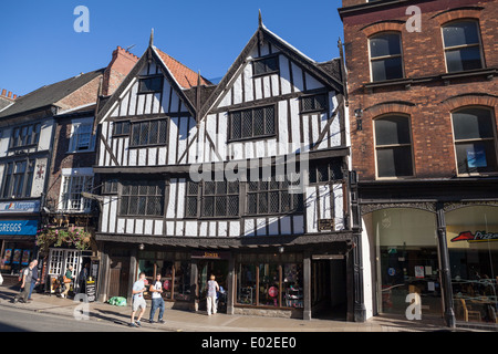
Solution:
[(366, 317), (496, 323), (498, 1), (342, 6)]

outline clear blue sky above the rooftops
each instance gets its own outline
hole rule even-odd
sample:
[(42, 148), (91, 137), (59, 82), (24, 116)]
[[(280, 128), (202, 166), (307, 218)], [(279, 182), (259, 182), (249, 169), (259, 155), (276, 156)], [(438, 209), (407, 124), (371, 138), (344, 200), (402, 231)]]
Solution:
[[(341, 0), (20, 0), (0, 6), (0, 88), (24, 95), (107, 65), (117, 46), (141, 56), (154, 44), (208, 79), (225, 75), (264, 25), (315, 61), (339, 56)], [(77, 6), (90, 32), (76, 33)]]

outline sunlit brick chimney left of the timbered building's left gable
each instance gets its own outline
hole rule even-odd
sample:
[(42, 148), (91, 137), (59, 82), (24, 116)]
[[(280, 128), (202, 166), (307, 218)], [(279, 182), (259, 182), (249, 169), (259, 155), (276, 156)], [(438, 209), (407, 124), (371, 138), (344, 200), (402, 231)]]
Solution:
[(104, 72), (104, 81), (102, 86), (102, 95), (112, 95), (120, 86), (129, 71), (135, 66), (138, 56), (117, 46), (113, 52), (113, 59)]

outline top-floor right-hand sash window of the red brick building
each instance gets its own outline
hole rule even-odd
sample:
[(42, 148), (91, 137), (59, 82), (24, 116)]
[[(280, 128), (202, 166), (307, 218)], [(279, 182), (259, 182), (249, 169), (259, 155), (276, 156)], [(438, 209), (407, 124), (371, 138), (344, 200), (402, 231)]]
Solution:
[(443, 41), (448, 73), (481, 69), (477, 21), (457, 21), (443, 27)]

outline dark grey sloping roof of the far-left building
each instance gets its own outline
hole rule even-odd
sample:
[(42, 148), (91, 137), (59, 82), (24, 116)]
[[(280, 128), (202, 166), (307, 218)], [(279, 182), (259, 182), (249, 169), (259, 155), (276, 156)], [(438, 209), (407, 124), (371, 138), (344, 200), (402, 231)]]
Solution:
[(86, 74), (80, 74), (51, 85), (42, 86), (24, 96), (20, 96), (15, 98), (14, 104), (0, 112), (0, 118), (55, 105), (65, 96), (102, 75), (104, 71), (105, 67)]

